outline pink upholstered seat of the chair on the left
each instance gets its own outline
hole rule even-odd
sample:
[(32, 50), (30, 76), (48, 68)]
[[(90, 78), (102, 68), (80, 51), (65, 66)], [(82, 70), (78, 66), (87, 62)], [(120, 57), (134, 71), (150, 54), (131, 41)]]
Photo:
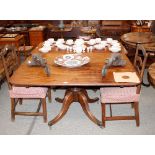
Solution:
[(47, 90), (44, 87), (12, 87), (9, 95), (11, 98), (45, 98)]

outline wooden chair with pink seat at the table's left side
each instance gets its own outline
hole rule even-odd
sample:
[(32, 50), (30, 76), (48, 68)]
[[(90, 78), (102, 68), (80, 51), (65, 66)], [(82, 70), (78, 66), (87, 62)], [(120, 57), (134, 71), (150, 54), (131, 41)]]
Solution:
[[(16, 49), (12, 45), (6, 45), (0, 56), (2, 57), (4, 70), (9, 87), (9, 96), (11, 98), (11, 120), (15, 120), (15, 115), (25, 116), (43, 116), (44, 122), (47, 122), (46, 96), (48, 88), (45, 87), (16, 87), (9, 83), (13, 72), (18, 68)], [(22, 103), (22, 99), (39, 99), (39, 106), (36, 112), (19, 112), (16, 111), (16, 105)], [(42, 112), (39, 112), (42, 105)]]

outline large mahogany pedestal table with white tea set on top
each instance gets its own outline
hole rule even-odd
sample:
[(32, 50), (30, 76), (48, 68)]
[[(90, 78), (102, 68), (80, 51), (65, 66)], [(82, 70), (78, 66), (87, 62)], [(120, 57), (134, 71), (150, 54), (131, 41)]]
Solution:
[(52, 126), (58, 122), (66, 114), (73, 102), (79, 102), (88, 118), (101, 127), (101, 121), (98, 120), (89, 109), (89, 103), (97, 101), (98, 98), (89, 98), (86, 88), (90, 86), (96, 88), (96, 86), (105, 87), (137, 85), (137, 83), (117, 83), (114, 81), (114, 71), (135, 71), (132, 63), (125, 55), (125, 49), (123, 46), (121, 49), (121, 55), (122, 58), (127, 61), (126, 66), (109, 68), (105, 77), (102, 77), (101, 71), (105, 60), (111, 56), (111, 52), (108, 49), (82, 53), (90, 58), (90, 62), (88, 64), (78, 68), (65, 68), (56, 65), (54, 63), (54, 59), (58, 56), (66, 54), (67, 51), (57, 51), (55, 48), (53, 48), (50, 52), (43, 54), (38, 50), (41, 47), (42, 44), (39, 44), (32, 53), (40, 53), (42, 54), (42, 57), (47, 60), (47, 64), (51, 71), (51, 76), (46, 76), (44, 69), (41, 67), (28, 66), (27, 61), (31, 59), (31, 57), (28, 57), (26, 61), (22, 63), (14, 72), (10, 79), (10, 83), (15, 86), (48, 86), (53, 88), (57, 86), (66, 87), (64, 98), (56, 98), (56, 101), (62, 102), (60, 113), (54, 119), (49, 121), (49, 126)]

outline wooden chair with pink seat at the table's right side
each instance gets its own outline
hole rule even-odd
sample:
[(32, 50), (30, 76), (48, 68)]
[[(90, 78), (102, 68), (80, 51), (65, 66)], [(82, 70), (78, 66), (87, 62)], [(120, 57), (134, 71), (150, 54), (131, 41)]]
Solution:
[[(141, 54), (142, 53), (142, 54)], [(139, 75), (141, 82), (144, 75), (148, 54), (142, 45), (137, 45), (134, 58), (134, 67)], [(101, 107), (102, 107), (102, 123), (105, 127), (105, 122), (109, 120), (136, 120), (136, 125), (139, 126), (139, 97), (141, 84), (135, 87), (105, 87), (100, 89)], [(134, 108), (134, 116), (112, 116), (111, 104), (131, 104)], [(106, 116), (106, 105), (110, 105), (110, 116)]]

